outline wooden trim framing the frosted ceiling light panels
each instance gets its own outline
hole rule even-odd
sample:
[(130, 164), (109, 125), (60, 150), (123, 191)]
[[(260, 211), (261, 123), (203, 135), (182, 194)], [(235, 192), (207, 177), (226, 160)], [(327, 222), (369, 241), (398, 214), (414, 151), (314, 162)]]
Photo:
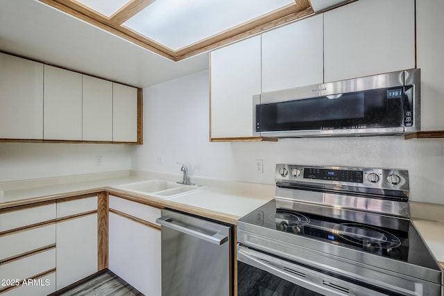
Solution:
[(245, 24), (241, 24), (240, 26), (209, 37), (206, 40), (201, 40), (195, 44), (186, 46), (178, 51), (173, 51), (122, 25), (125, 21), (130, 19), (130, 17), (136, 15), (137, 12), (151, 5), (155, 0), (132, 0), (115, 12), (111, 17), (105, 17), (99, 12), (74, 0), (39, 1), (173, 61), (184, 60), (193, 55), (243, 39), (249, 35), (255, 35), (289, 21), (294, 21), (314, 14), (309, 0), (296, 0), (296, 3), (294, 4), (290, 4), (279, 10), (270, 12), (267, 15), (248, 21)]

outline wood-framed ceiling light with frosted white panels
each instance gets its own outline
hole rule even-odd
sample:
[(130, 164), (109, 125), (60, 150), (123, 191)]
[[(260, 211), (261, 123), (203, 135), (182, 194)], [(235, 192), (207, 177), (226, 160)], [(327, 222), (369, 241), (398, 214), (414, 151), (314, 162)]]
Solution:
[(174, 61), (313, 15), (309, 0), (37, 0)]

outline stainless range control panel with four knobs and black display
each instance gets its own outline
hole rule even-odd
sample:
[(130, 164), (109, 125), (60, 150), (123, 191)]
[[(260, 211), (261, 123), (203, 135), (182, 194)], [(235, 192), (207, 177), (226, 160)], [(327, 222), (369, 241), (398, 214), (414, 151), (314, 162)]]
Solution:
[(276, 164), (276, 183), (324, 184), (409, 190), (409, 172), (397, 168), (350, 168)]

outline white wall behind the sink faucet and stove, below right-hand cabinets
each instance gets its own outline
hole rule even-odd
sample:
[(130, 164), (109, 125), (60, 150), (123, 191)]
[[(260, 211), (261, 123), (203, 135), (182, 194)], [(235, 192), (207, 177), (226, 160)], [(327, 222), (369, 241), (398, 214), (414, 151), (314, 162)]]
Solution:
[[(411, 200), (444, 204), (444, 139), (402, 137), (281, 139), (276, 142), (210, 143), (209, 74), (192, 74), (144, 89), (144, 145), (133, 169), (191, 177), (274, 183), (278, 162), (407, 168)], [(227, 114), (230, 116), (230, 114)], [(157, 158), (163, 158), (163, 164)], [(255, 159), (264, 173), (255, 173)]]

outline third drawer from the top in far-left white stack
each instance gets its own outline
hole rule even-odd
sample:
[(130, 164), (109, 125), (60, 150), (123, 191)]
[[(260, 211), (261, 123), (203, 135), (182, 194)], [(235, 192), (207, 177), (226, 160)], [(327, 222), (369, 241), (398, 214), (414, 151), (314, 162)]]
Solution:
[(53, 268), (56, 268), (56, 248), (0, 265), (0, 275), (23, 280)]

